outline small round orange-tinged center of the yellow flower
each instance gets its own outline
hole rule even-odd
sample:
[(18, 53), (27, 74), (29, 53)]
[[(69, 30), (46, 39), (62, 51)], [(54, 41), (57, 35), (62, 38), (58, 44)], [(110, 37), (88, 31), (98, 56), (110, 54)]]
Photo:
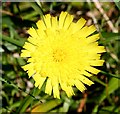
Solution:
[(65, 58), (65, 53), (61, 49), (57, 49), (53, 52), (53, 60), (55, 62), (61, 62)]

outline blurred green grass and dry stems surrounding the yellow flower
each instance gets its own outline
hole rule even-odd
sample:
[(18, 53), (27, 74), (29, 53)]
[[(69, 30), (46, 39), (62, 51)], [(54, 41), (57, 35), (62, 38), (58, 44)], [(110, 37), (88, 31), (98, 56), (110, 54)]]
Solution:
[[(0, 101), (1, 113), (20, 112), (65, 112), (81, 114), (114, 114), (120, 110), (120, 2), (2, 2), (0, 6), (2, 32), (0, 34)], [(21, 49), (28, 38), (27, 30), (36, 27), (43, 15), (59, 16), (61, 11), (74, 15), (74, 22), (80, 17), (86, 25), (94, 24), (100, 33), (99, 45), (106, 53), (101, 72), (93, 75), (95, 82), (81, 93), (75, 89), (75, 96), (68, 98), (61, 91), (61, 99), (54, 99), (34, 87), (34, 80), (28, 78), (21, 68), (27, 59), (20, 57)]]

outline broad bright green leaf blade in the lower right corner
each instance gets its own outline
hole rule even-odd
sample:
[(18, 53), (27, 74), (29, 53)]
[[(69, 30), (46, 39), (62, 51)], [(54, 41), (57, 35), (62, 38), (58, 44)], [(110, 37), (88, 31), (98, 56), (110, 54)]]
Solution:
[(97, 99), (98, 103), (94, 107), (93, 112), (97, 112), (98, 111), (98, 107), (102, 103), (102, 101), (105, 100), (108, 95), (110, 95), (111, 93), (113, 93), (115, 90), (118, 89), (118, 86), (119, 86), (118, 83), (120, 83), (119, 79), (117, 79), (117, 78), (111, 78), (110, 79), (110, 81), (108, 83), (108, 88), (105, 88), (103, 90), (103, 92), (101, 93), (101, 95), (98, 97), (98, 99)]

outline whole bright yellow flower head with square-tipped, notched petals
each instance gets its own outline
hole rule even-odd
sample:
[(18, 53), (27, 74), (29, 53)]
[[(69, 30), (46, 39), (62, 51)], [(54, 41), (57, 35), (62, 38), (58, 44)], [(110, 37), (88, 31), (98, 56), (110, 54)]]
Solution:
[(98, 46), (99, 34), (91, 35), (96, 28), (85, 26), (86, 20), (80, 18), (76, 23), (73, 15), (61, 12), (59, 20), (50, 14), (44, 21), (37, 22), (38, 29), (30, 28), (30, 37), (25, 42), (21, 57), (29, 57), (28, 64), (23, 66), (29, 77), (33, 77), (39, 89), (46, 80), (45, 93), (60, 98), (60, 89), (68, 97), (74, 95), (73, 86), (81, 92), (92, 85), (88, 78), (100, 70), (103, 46)]

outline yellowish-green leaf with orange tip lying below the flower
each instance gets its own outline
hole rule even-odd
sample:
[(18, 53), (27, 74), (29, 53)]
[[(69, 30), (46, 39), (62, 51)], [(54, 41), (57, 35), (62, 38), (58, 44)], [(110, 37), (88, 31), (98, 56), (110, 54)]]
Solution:
[(53, 99), (47, 101), (46, 103), (39, 104), (32, 109), (32, 112), (48, 112), (49, 110), (55, 108), (62, 103), (61, 100)]

